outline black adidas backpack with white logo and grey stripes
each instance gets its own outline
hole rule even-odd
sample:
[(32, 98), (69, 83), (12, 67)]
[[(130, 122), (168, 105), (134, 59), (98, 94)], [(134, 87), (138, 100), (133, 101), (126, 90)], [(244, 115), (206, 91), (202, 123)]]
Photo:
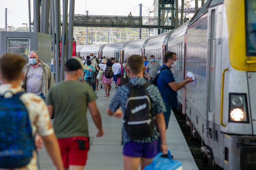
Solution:
[(125, 84), (131, 93), (125, 104), (125, 114), (122, 122), (131, 139), (143, 139), (154, 134), (155, 116), (146, 90), (150, 85), (149, 82), (143, 86), (132, 86), (131, 83)]

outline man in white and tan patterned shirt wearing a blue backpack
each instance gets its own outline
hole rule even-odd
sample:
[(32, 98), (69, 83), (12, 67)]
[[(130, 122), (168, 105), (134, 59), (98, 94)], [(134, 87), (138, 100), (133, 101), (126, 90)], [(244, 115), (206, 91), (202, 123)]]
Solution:
[(64, 170), (45, 102), (20, 87), (26, 62), (16, 54), (0, 58), (0, 169), (37, 170), (38, 132), (56, 168)]

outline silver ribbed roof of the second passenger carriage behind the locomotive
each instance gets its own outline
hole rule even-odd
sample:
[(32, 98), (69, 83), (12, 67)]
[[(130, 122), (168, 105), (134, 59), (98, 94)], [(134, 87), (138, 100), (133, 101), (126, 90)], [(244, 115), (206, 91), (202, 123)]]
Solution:
[(171, 35), (171, 32), (173, 31), (168, 31), (168, 32), (149, 38), (146, 44), (146, 47), (153, 46), (153, 45), (167, 44), (167, 41)]

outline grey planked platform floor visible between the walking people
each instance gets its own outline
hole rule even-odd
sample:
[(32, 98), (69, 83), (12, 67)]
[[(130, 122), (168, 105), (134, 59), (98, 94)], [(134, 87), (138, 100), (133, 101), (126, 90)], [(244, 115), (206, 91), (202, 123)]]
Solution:
[[(112, 84), (112, 87), (114, 84)], [(88, 123), (90, 136), (94, 136), (93, 145), (89, 151), (87, 165), (85, 170), (122, 170), (122, 146), (121, 146), (121, 129), (122, 123), (120, 119), (110, 117), (106, 113), (106, 108), (110, 103), (116, 90), (110, 91), (110, 97), (104, 98), (104, 89), (100, 89), (96, 94), (98, 96), (97, 106), (101, 113), (103, 128), (105, 135), (102, 138), (96, 138), (97, 129), (93, 124), (90, 113), (88, 113)], [(183, 170), (197, 170), (198, 167), (193, 159), (190, 149), (182, 134), (180, 127), (173, 115), (171, 114), (169, 127), (166, 132), (168, 149), (175, 160), (179, 160), (183, 164)], [(39, 170), (55, 170), (48, 154), (43, 150), (39, 152)]]

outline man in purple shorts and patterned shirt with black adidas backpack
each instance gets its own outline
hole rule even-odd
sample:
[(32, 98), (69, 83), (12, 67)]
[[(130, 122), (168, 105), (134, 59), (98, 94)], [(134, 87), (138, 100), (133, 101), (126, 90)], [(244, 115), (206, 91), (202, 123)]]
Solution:
[[(117, 89), (107, 113), (122, 118), (122, 143), (124, 170), (143, 169), (158, 153), (158, 137), (161, 150), (167, 154), (165, 123), (166, 112), (157, 87), (143, 78), (144, 64), (140, 55), (127, 60), (130, 82)], [(124, 113), (119, 110), (122, 107)]]

